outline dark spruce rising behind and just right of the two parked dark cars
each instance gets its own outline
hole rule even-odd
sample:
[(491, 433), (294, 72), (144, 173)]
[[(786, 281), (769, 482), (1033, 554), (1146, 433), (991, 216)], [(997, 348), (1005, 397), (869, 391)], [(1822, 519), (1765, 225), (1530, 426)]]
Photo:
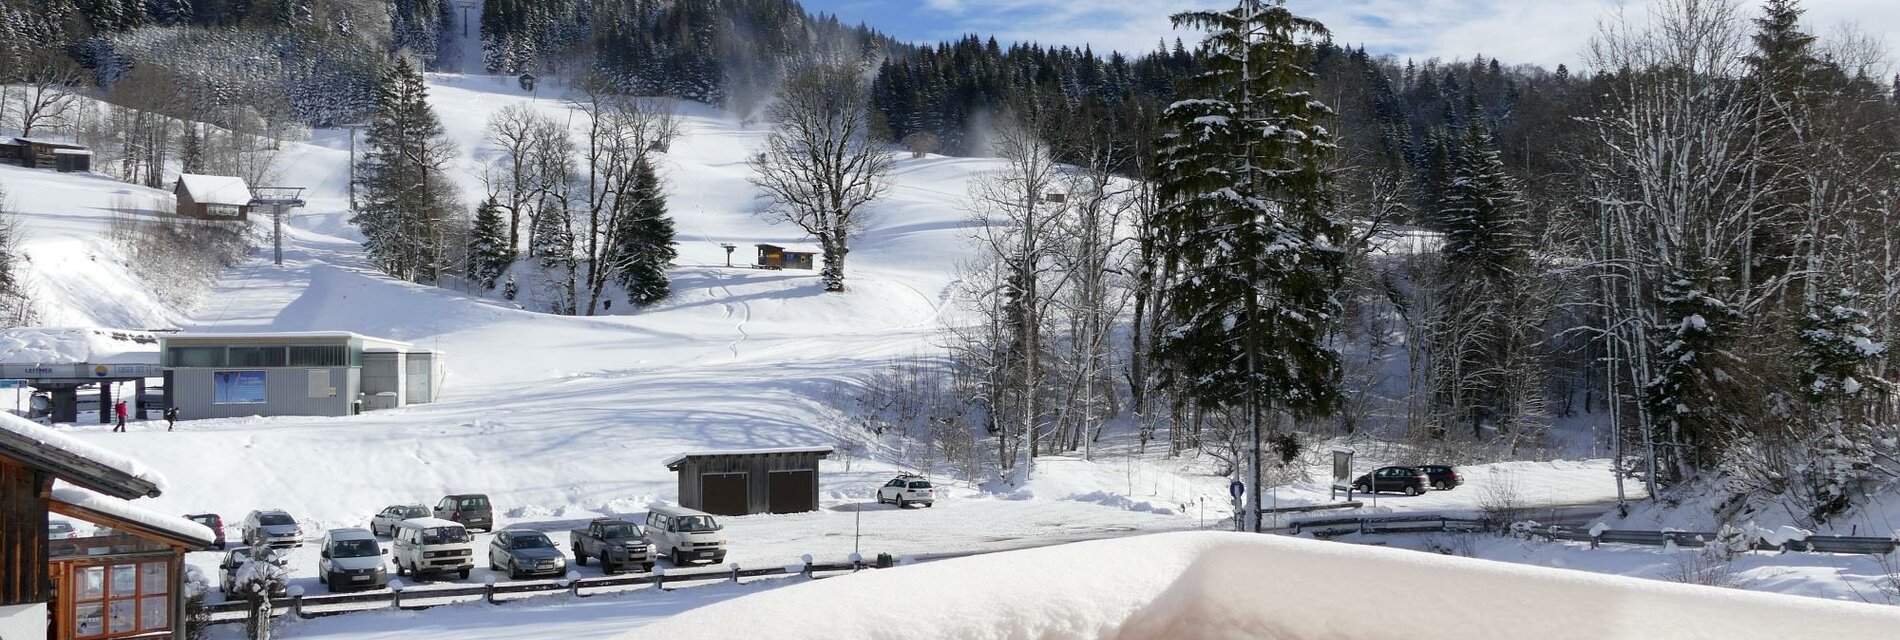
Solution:
[(1535, 393), (1535, 376), (1526, 370), (1537, 323), (1526, 300), (1524, 199), (1492, 144), (1472, 114), (1438, 188), (1434, 220), (1444, 234), (1444, 272), (1433, 399), (1444, 427), (1461, 424), (1478, 439), (1486, 425), (1499, 435), (1514, 427)]

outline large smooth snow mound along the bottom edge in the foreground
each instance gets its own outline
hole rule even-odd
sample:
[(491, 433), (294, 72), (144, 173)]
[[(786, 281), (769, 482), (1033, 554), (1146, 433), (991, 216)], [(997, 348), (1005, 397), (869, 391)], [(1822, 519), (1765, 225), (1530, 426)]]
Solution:
[(623, 638), (1885, 638), (1900, 608), (1250, 534), (1161, 534), (750, 594)]

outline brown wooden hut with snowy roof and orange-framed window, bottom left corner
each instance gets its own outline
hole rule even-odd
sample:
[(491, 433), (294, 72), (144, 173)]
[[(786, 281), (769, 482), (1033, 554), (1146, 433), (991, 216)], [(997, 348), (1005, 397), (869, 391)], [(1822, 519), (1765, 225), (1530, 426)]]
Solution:
[[(0, 416), (0, 638), (184, 638), (184, 553), (213, 532), (129, 499), (158, 496), (133, 463)], [(89, 522), (48, 534), (49, 513)]]

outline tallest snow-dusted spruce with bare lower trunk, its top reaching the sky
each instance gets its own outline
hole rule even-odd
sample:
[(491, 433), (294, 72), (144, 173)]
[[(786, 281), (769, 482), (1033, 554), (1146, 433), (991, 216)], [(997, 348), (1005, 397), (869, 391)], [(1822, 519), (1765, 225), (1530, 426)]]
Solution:
[(1243, 410), (1252, 431), (1252, 528), (1260, 526), (1260, 442), (1267, 412), (1294, 420), (1340, 405), (1345, 224), (1334, 218), (1320, 125), (1332, 110), (1307, 85), (1326, 27), (1279, 0), (1174, 15), (1208, 30), (1206, 70), (1167, 108), (1157, 152), (1157, 224), (1178, 277), (1167, 283), (1174, 327), (1157, 367), (1206, 410)]

